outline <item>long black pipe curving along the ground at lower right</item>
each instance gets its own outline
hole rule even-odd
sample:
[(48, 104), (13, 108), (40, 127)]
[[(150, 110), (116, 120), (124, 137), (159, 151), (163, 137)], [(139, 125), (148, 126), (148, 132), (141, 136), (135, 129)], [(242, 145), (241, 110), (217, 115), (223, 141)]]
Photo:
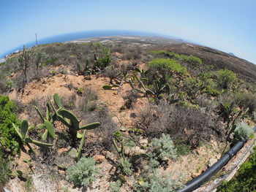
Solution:
[[(256, 126), (253, 128), (253, 131), (256, 131)], [(246, 140), (240, 140), (234, 145), (230, 150), (225, 153), (225, 155), (222, 156), (222, 158), (219, 159), (213, 166), (211, 166), (209, 169), (206, 170), (206, 172), (203, 172), (198, 177), (195, 177), (194, 180), (189, 181), (186, 183), (186, 187), (181, 189), (179, 192), (190, 192), (195, 190), (196, 188), (200, 187), (203, 183), (206, 182), (211, 176), (213, 176), (216, 172), (219, 171), (219, 169), (222, 169), (222, 166), (225, 166), (228, 161), (230, 161), (231, 158), (233, 158), (234, 155), (238, 152), (238, 150), (241, 149), (241, 147), (244, 146), (244, 143)]]

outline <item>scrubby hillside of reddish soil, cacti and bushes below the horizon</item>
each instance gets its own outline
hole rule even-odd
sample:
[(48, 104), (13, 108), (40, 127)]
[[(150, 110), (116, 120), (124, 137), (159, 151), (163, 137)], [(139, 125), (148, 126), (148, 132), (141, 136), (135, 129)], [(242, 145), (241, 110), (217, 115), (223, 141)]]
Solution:
[(0, 183), (11, 191), (182, 187), (252, 136), (255, 72), (227, 53), (159, 37), (15, 53), (0, 64)]

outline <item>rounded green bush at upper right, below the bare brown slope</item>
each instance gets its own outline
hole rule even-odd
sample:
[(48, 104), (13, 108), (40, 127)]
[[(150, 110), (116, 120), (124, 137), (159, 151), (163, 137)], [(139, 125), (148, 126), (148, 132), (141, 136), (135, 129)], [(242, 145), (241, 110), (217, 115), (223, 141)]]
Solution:
[(230, 87), (230, 85), (238, 82), (236, 74), (228, 69), (220, 69), (219, 71), (215, 72), (215, 78), (217, 80), (217, 84), (219, 84), (219, 87), (223, 89), (227, 89)]

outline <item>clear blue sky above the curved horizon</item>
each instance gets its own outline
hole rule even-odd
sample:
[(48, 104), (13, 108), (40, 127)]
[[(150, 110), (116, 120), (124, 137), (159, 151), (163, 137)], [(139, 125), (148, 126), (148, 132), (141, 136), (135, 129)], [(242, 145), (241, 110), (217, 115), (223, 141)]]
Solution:
[(0, 54), (77, 31), (166, 34), (256, 64), (255, 0), (0, 0)]

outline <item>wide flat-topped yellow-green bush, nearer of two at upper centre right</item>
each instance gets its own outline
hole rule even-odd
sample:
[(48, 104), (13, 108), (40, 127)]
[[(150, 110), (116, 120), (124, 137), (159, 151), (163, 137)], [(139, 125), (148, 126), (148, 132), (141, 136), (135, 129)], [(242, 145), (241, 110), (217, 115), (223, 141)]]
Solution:
[(173, 70), (179, 74), (187, 74), (187, 69), (185, 67), (181, 66), (181, 64), (178, 64), (176, 61), (170, 58), (155, 58), (148, 63), (148, 68), (156, 68), (159, 71)]

